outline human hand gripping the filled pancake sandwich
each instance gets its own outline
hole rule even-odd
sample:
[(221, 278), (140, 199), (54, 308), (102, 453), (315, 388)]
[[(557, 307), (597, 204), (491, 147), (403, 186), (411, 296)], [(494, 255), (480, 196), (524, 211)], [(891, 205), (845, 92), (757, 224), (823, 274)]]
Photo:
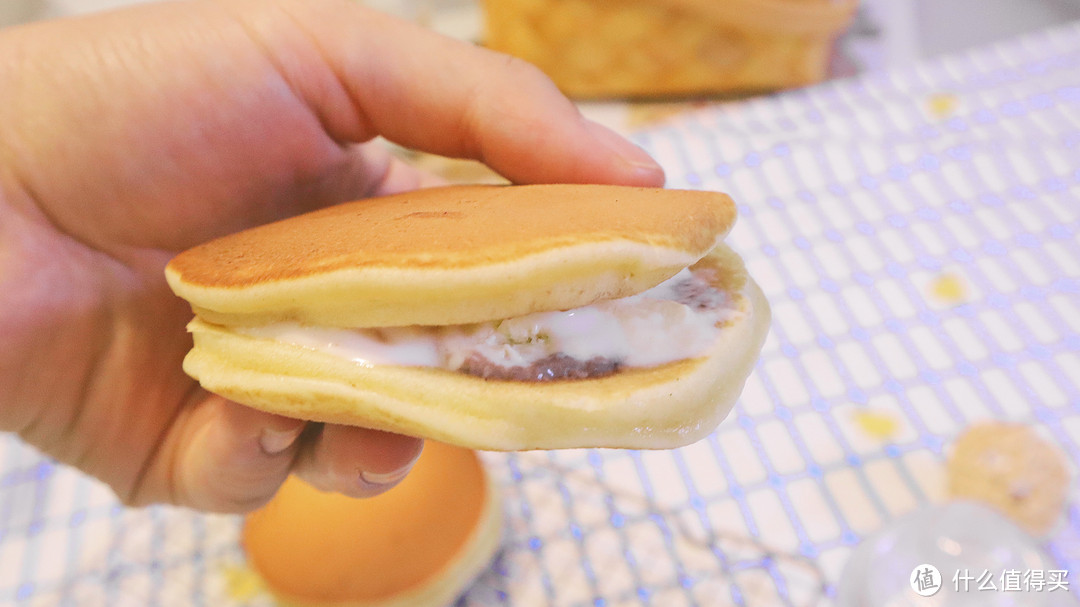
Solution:
[(0, 32), (0, 430), (127, 503), (246, 511), (289, 472), (354, 496), (421, 442), (306, 424), (184, 375), (178, 251), (422, 187), (376, 136), (518, 183), (657, 186), (534, 68), (349, 0), (192, 0)]

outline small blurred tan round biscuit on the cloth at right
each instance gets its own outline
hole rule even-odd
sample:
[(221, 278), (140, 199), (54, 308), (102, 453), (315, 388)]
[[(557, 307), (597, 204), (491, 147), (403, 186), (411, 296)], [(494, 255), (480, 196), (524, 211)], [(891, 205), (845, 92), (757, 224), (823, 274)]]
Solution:
[(970, 428), (954, 444), (946, 475), (950, 497), (985, 502), (1036, 536), (1050, 534), (1065, 511), (1065, 458), (1022, 423)]

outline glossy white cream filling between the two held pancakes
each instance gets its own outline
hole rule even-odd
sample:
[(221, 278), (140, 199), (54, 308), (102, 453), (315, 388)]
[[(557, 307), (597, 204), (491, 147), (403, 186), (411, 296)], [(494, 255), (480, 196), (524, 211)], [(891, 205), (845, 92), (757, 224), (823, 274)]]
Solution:
[(702, 280), (687, 269), (630, 297), (489, 323), (352, 329), (276, 323), (235, 331), (366, 364), (457, 370), (477, 354), (509, 367), (561, 353), (578, 361), (651, 367), (703, 354), (715, 342), (718, 325), (739, 314), (712, 287), (704, 295), (705, 308), (679, 302), (680, 283)]

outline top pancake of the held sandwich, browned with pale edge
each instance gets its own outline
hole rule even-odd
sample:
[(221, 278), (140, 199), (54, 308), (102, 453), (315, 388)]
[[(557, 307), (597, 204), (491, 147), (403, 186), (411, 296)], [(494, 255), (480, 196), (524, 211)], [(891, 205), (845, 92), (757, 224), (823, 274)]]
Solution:
[(459, 324), (644, 291), (733, 221), (717, 192), (449, 186), (238, 232), (179, 254), (165, 274), (217, 324)]

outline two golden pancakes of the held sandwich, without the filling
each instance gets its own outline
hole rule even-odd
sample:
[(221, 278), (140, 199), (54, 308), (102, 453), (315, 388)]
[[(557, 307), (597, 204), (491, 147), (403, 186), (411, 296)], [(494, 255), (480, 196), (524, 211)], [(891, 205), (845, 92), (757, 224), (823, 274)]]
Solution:
[[(730, 199), (715, 192), (449, 187), (226, 237), (179, 255), (166, 272), (198, 316), (185, 370), (233, 401), (482, 449), (671, 448), (723, 420), (768, 328), (760, 289), (718, 243), (732, 221)], [(449, 326), (579, 309), (687, 267), (731, 307), (723, 323), (708, 321), (710, 335), (718, 331), (707, 348), (582, 379), (372, 362), (248, 331), (282, 320)]]

